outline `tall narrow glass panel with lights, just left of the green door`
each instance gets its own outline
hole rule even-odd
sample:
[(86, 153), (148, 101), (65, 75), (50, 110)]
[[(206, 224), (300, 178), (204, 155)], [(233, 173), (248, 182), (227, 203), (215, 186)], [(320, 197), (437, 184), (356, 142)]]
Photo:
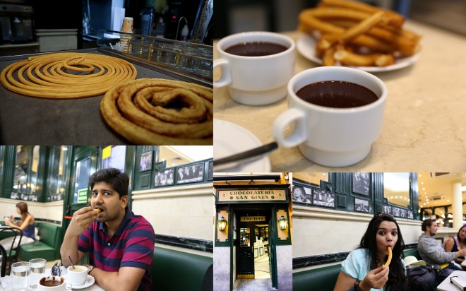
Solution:
[(66, 154), (68, 145), (51, 147), (49, 158), (49, 176), (47, 177), (47, 202), (59, 201), (64, 198), (66, 188)]

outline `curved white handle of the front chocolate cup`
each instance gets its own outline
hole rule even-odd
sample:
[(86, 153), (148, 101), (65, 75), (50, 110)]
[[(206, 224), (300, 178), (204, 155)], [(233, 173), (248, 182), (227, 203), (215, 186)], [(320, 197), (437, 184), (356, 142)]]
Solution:
[[(294, 131), (287, 137), (283, 135), (289, 124), (295, 122)], [(282, 112), (273, 122), (272, 134), (277, 143), (285, 148), (304, 143), (307, 139), (306, 115), (299, 109), (289, 108)]]

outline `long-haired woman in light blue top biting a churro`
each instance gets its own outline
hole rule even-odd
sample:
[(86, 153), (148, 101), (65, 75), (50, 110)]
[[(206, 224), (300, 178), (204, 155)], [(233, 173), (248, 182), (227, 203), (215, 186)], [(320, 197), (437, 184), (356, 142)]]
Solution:
[(335, 291), (408, 290), (404, 248), (395, 218), (386, 213), (374, 215), (359, 247), (342, 262)]

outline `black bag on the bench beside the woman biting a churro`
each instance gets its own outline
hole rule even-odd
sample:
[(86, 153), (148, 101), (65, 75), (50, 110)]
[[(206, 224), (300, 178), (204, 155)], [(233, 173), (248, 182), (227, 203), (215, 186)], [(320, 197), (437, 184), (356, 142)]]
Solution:
[(436, 291), (438, 270), (433, 266), (407, 266), (408, 286), (412, 291)]

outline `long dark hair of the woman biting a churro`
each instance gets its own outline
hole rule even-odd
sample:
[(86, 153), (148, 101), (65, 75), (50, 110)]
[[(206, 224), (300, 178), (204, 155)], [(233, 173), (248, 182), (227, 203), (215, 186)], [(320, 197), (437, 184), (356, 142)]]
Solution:
[[(361, 244), (359, 244), (358, 249), (368, 249), (369, 250), (369, 268), (374, 270), (374, 268), (378, 267), (378, 263), (380, 262), (377, 257), (377, 231), (378, 226), (381, 224), (382, 221), (390, 221), (394, 222), (397, 230), (398, 230), (398, 240), (395, 246), (392, 249), (392, 262), (390, 263), (390, 272), (388, 273), (388, 281), (386, 283), (387, 291), (398, 291), (398, 290), (408, 290), (407, 285), (407, 277), (405, 274), (405, 268), (403, 268), (403, 264), (401, 262), (401, 258), (404, 257), (403, 249), (405, 249), (405, 241), (400, 232), (400, 227), (398, 226), (398, 222), (396, 222), (393, 215), (386, 214), (386, 213), (378, 213), (374, 215), (371, 222), (367, 227), (366, 232), (362, 236)], [(386, 260), (388, 257), (386, 258)]]

